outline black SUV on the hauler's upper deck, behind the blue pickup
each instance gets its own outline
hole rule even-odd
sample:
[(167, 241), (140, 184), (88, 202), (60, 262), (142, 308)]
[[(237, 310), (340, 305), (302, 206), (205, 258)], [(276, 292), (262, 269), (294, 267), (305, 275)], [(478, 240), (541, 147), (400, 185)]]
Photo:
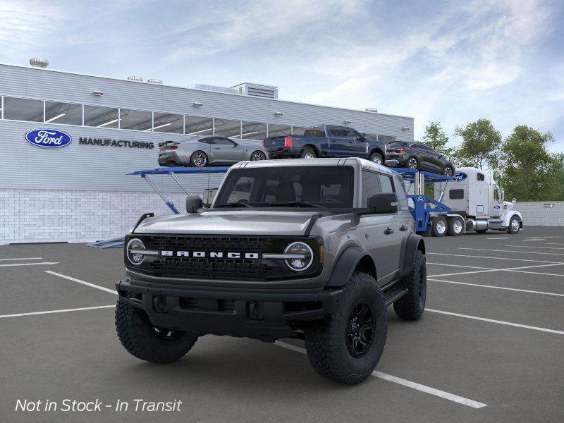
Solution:
[(397, 160), (398, 167), (419, 169), (453, 176), (455, 165), (443, 154), (421, 142), (393, 141), (386, 145), (386, 160)]

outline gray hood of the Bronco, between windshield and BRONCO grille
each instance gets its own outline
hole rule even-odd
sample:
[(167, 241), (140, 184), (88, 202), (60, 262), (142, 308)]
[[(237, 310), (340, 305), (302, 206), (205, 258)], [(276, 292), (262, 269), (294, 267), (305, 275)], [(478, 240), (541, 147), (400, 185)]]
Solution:
[(269, 212), (225, 210), (195, 214), (173, 214), (145, 219), (135, 233), (213, 235), (304, 235), (309, 219), (317, 211)]

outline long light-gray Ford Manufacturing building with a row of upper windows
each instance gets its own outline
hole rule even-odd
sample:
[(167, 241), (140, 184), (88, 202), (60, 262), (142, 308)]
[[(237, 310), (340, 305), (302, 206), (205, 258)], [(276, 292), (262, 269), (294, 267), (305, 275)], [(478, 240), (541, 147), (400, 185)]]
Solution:
[[(112, 238), (142, 213), (168, 213), (142, 178), (127, 175), (157, 167), (157, 143), (166, 140), (214, 134), (260, 142), (321, 123), (350, 125), (386, 142), (413, 140), (413, 118), (286, 102), (267, 85), (173, 87), (30, 63), (0, 64), (0, 244)], [(25, 140), (42, 129), (72, 140), (61, 148)], [(187, 178), (190, 189), (202, 192), (223, 175)], [(181, 208), (178, 185), (154, 180)]]

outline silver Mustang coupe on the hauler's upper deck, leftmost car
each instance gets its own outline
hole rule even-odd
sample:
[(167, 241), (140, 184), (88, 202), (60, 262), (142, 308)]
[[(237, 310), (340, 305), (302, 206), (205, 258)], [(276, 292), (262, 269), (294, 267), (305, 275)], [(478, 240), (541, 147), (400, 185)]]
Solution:
[(160, 166), (221, 166), (269, 158), (268, 150), (262, 145), (216, 135), (161, 142), (159, 148)]

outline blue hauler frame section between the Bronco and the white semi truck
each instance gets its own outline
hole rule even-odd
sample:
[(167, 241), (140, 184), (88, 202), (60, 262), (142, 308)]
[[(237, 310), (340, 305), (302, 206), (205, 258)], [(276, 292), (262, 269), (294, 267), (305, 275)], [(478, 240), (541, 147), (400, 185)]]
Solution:
[[(403, 176), (404, 180), (410, 181), (410, 184), (415, 184), (414, 194), (407, 195), (413, 200), (414, 207), (410, 207), (411, 215), (415, 220), (415, 231), (425, 232), (429, 228), (429, 219), (431, 213), (445, 213), (450, 212), (450, 207), (443, 204), (443, 193), (439, 200), (435, 200), (424, 192), (425, 183), (445, 182), (452, 180), (451, 176), (441, 175), (439, 173), (431, 173), (427, 171), (419, 171), (418, 169), (410, 168), (392, 168)], [(446, 185), (445, 185), (446, 188)]]

